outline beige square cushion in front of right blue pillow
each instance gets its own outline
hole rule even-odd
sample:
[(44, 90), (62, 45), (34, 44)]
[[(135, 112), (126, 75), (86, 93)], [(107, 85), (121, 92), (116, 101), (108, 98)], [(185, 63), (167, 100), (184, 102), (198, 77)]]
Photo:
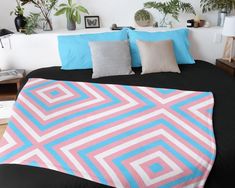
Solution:
[(142, 74), (154, 72), (177, 72), (177, 65), (171, 40), (159, 42), (137, 41), (140, 52)]

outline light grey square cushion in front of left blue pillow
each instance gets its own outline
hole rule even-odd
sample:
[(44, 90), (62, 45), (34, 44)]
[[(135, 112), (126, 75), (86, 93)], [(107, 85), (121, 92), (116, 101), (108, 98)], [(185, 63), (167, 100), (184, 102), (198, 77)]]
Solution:
[(92, 54), (92, 78), (134, 74), (128, 41), (90, 42)]

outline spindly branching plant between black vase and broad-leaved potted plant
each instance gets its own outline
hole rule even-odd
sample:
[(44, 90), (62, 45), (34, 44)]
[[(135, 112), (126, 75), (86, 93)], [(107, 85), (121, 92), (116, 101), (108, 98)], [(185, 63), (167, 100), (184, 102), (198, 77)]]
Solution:
[(20, 0), (22, 5), (26, 5), (29, 3), (34, 4), (36, 8), (38, 8), (41, 12), (41, 15), (44, 19), (43, 30), (52, 31), (53, 26), (50, 19), (51, 11), (55, 8), (58, 0)]

